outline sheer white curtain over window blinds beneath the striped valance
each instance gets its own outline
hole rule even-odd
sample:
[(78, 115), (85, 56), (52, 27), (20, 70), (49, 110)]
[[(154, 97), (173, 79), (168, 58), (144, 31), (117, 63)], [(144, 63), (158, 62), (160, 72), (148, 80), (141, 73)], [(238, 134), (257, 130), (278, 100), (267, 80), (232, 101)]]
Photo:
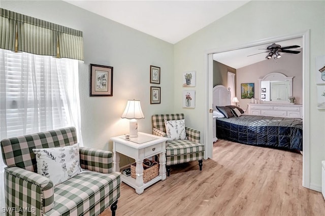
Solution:
[(0, 140), (68, 126), (82, 146), (78, 60), (0, 49)]

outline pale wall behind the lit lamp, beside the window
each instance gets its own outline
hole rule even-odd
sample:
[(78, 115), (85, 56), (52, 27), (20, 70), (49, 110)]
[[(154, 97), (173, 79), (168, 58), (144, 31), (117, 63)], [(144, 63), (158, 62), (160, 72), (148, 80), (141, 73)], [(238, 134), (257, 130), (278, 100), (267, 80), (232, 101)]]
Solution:
[[(121, 119), (127, 99), (141, 100), (145, 119), (139, 131), (151, 133), (151, 115), (171, 113), (174, 103), (173, 45), (62, 1), (1, 1), (1, 7), (83, 31), (79, 62), (81, 130), (84, 146), (112, 150), (110, 137), (128, 133)], [(89, 64), (113, 66), (113, 96), (89, 97)], [(150, 104), (150, 65), (160, 67), (161, 104)], [(127, 164), (121, 157), (121, 165)]]

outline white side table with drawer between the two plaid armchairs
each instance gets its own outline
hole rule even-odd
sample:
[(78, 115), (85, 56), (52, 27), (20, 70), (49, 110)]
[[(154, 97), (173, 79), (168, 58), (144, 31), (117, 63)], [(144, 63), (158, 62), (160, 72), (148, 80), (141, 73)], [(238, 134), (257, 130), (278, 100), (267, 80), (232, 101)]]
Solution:
[[(158, 181), (166, 179), (166, 141), (168, 138), (155, 136), (148, 133), (138, 133), (137, 138), (126, 140), (123, 136), (112, 137), (113, 140), (113, 170), (120, 171), (119, 154), (123, 154), (136, 160), (136, 179), (131, 176), (121, 175), (125, 184), (136, 189), (142, 194), (144, 189)], [(148, 141), (146, 141), (148, 140)], [(139, 143), (137, 143), (139, 142)], [(159, 154), (159, 175), (147, 183), (143, 183), (143, 160)]]

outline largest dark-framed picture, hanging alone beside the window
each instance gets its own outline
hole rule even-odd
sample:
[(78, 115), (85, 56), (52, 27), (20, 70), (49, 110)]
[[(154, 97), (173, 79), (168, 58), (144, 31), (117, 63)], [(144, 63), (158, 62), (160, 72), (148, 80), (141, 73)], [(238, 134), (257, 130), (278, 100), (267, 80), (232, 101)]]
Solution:
[(90, 64), (89, 96), (113, 96), (113, 67)]

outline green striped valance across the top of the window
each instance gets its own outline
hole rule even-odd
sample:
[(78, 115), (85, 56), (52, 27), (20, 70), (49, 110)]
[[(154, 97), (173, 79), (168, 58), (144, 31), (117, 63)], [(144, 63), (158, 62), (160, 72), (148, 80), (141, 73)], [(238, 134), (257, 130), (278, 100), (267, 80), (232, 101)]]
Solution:
[(0, 8), (0, 48), (83, 60), (82, 31)]

